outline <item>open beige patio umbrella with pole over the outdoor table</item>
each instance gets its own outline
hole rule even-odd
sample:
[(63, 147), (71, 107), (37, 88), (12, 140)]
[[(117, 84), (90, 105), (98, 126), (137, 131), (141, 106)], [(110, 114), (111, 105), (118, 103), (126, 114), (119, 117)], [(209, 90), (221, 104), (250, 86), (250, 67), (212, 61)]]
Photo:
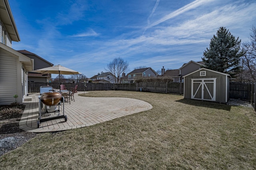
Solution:
[(52, 67), (46, 67), (43, 69), (37, 69), (32, 72), (35, 73), (49, 73), (49, 74), (58, 74), (59, 75), (59, 83), (60, 83), (60, 75), (65, 74), (65, 75), (70, 75), (70, 74), (81, 74), (78, 71), (74, 71), (72, 69), (68, 69), (66, 67), (63, 67), (61, 65), (54, 65)]

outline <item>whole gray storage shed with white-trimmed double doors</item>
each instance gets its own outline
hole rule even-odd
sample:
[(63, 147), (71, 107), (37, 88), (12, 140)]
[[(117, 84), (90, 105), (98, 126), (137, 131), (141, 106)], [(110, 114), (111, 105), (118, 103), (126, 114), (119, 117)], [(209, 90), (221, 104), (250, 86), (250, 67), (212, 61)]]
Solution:
[(184, 77), (184, 98), (227, 103), (230, 75), (199, 69)]

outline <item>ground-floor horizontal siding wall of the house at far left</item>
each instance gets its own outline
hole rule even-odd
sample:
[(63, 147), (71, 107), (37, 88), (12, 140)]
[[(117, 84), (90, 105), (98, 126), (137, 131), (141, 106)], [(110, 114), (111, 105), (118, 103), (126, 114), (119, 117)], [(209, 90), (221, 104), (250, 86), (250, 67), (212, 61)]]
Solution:
[(17, 62), (17, 58), (0, 51), (0, 105), (14, 102), (13, 95), (18, 94)]

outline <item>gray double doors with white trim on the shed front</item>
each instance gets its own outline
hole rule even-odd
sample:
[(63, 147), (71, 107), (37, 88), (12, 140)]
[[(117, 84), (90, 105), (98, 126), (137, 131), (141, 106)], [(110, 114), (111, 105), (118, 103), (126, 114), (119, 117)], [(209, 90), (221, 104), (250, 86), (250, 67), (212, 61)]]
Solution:
[(191, 80), (192, 99), (216, 101), (216, 78)]

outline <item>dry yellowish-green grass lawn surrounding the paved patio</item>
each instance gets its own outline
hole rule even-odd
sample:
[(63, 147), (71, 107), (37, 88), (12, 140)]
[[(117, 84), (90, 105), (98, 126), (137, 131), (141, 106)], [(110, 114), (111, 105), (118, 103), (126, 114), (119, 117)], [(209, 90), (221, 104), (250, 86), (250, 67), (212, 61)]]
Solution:
[(85, 95), (141, 99), (153, 109), (86, 128), (38, 134), (1, 156), (1, 169), (256, 169), (252, 108), (146, 92)]

